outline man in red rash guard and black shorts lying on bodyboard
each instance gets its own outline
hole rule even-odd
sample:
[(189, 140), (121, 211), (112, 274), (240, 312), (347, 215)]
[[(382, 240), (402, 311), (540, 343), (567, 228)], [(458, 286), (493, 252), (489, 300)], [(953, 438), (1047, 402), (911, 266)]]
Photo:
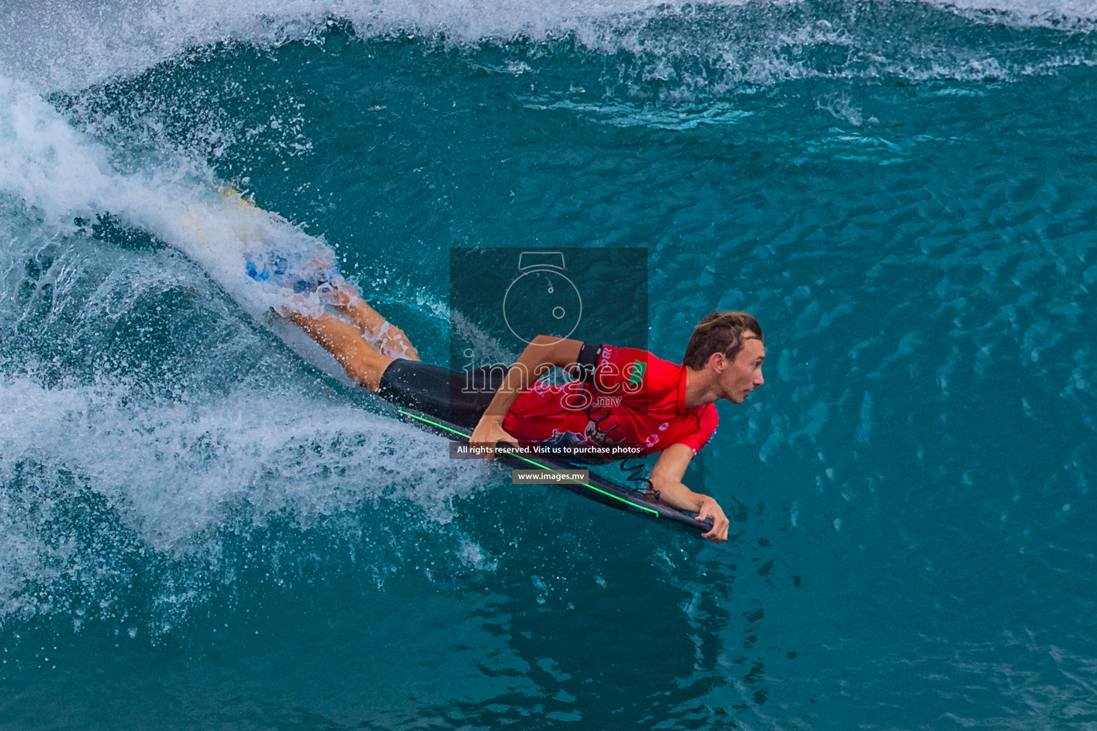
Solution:
[[(513, 366), (463, 374), (419, 362), (404, 332), (384, 322), (344, 281), (329, 287), (327, 298), (350, 321), (292, 307), (279, 315), (308, 333), (370, 391), (474, 426), (473, 445), (613, 447), (611, 454), (620, 456), (659, 453), (649, 478), (655, 498), (695, 512), (699, 521), (711, 518), (712, 529), (703, 538), (727, 539), (728, 521), (719, 503), (681, 479), (716, 430), (713, 403), (742, 403), (765, 382), (764, 335), (750, 315), (705, 317), (693, 329), (681, 365), (637, 349), (538, 335)], [(554, 366), (576, 380), (555, 386), (540, 381)]]

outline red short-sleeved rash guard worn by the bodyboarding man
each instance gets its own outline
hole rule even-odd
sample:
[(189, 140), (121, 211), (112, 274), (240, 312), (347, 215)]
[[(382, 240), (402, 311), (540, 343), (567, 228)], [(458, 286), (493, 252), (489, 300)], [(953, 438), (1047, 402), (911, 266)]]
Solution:
[[(687, 409), (686, 368), (634, 347), (584, 344), (583, 380), (536, 382), (518, 396), (502, 422), (523, 446), (632, 446), (648, 455), (672, 444), (693, 454), (716, 431), (716, 408)], [(595, 366), (595, 367), (589, 367)], [(627, 457), (618, 454), (610, 458)]]

